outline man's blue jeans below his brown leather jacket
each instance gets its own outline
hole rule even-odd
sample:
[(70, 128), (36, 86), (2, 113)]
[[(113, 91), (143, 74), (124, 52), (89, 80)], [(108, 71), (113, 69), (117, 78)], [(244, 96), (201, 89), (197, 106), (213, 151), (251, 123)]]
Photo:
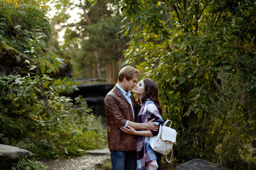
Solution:
[(134, 152), (111, 151), (112, 170), (136, 170), (137, 154)]

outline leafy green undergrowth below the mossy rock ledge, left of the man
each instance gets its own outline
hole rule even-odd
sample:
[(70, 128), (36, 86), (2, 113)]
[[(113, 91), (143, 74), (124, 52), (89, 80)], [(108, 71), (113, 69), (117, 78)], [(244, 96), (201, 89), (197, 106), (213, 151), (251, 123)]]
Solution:
[[(40, 157), (81, 155), (105, 147), (104, 128), (82, 98), (73, 104), (60, 93), (76, 89), (72, 81), (42, 76), (3, 76), (1, 143), (16, 145)], [(8, 139), (8, 140), (7, 140)]]

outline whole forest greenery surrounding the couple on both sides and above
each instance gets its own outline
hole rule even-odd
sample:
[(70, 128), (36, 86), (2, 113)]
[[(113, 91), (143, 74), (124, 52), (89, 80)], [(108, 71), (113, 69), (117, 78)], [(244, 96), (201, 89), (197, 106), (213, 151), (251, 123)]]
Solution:
[[(107, 146), (87, 107), (63, 96), (73, 78), (117, 80), (137, 67), (159, 86), (164, 119), (178, 131), (173, 166), (193, 158), (252, 169), (256, 147), (255, 1), (0, 0), (0, 142), (36, 158), (82, 155)], [(56, 9), (48, 18), (49, 6)], [(79, 19), (68, 22), (70, 10)], [(64, 41), (58, 33), (65, 29)], [(168, 168), (168, 167), (167, 167)]]

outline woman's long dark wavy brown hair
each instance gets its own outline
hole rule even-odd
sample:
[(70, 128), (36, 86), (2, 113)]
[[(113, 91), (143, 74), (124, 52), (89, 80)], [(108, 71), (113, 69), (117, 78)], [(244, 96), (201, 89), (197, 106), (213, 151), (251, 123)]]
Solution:
[(154, 101), (156, 107), (159, 110), (160, 115), (163, 113), (163, 110), (159, 103), (159, 90), (156, 86), (156, 83), (151, 79), (142, 79), (144, 82), (145, 92), (142, 95), (142, 103), (145, 103), (147, 99)]

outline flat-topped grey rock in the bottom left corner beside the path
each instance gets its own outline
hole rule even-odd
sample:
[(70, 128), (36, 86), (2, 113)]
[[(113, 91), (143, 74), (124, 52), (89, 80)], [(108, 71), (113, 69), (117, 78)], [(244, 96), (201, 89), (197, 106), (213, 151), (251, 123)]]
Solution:
[(9, 145), (0, 145), (0, 167), (1, 170), (11, 169), (12, 164), (18, 162), (18, 157), (32, 154), (26, 149), (12, 147)]

